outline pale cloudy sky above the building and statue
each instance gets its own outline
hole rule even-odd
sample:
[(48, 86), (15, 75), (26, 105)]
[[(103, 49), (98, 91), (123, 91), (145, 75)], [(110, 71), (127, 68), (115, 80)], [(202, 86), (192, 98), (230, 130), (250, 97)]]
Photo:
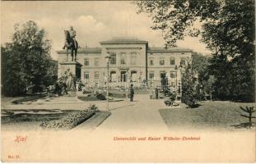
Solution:
[[(64, 30), (73, 26), (81, 47), (100, 47), (100, 41), (114, 37), (137, 37), (147, 40), (149, 46), (164, 47), (161, 31), (151, 30), (153, 25), (147, 14), (137, 14), (131, 1), (35, 1), (1, 2), (1, 44), (12, 41), (13, 25), (35, 21), (46, 31), (52, 42), (51, 55), (57, 59), (57, 50), (63, 48)], [(177, 43), (180, 48), (209, 53), (199, 38), (186, 37)]]

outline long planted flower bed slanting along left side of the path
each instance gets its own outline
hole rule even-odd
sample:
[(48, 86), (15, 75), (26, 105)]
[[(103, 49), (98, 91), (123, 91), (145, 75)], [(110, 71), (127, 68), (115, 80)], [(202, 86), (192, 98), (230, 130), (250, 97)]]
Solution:
[(77, 125), (89, 119), (95, 114), (97, 107), (95, 105), (89, 107), (86, 110), (79, 112), (69, 113), (67, 116), (64, 116), (61, 119), (54, 121), (44, 121), (40, 124), (42, 129), (54, 129), (54, 130), (71, 130)]

